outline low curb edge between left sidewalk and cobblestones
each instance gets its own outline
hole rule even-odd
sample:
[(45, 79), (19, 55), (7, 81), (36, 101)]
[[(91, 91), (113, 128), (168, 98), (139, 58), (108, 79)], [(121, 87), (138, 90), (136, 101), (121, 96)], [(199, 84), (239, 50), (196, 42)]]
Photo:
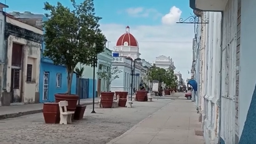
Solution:
[[(88, 103), (82, 103), (81, 105), (91, 105), (93, 102), (88, 102)], [(94, 102), (97, 104), (98, 102)], [(4, 114), (0, 115), (0, 119), (9, 119), (9, 118), (17, 118), (25, 115), (30, 115), (30, 114), (36, 114), (36, 113), (41, 113), (43, 112), (43, 108), (39, 110), (29, 110), (29, 111), (23, 111), (23, 112), (16, 112), (16, 113), (9, 113), (9, 114)]]

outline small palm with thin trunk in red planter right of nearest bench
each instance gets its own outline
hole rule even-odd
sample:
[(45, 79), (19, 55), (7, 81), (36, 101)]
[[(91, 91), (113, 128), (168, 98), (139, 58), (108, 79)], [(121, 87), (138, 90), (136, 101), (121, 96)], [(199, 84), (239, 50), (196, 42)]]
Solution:
[(86, 106), (85, 105), (81, 105), (80, 104), (80, 89), (81, 89), (81, 78), (83, 76), (83, 71), (84, 71), (84, 67), (81, 67), (81, 64), (80, 64), (80, 68), (75, 68), (75, 73), (76, 73), (76, 77), (77, 77), (77, 80), (78, 80), (78, 95), (79, 95), (79, 98), (78, 98), (78, 103), (76, 105), (76, 109), (75, 109), (75, 113), (74, 113), (74, 119), (75, 120), (80, 120), (83, 118), (83, 114), (84, 114), (84, 111), (86, 109)]

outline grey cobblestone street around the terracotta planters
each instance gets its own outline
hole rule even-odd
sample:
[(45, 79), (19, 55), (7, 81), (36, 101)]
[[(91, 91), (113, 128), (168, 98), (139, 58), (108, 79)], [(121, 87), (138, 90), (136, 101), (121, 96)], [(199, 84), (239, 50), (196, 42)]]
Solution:
[(134, 108), (101, 109), (71, 125), (45, 124), (43, 114), (0, 120), (0, 144), (105, 144), (161, 109), (171, 99), (134, 102)]

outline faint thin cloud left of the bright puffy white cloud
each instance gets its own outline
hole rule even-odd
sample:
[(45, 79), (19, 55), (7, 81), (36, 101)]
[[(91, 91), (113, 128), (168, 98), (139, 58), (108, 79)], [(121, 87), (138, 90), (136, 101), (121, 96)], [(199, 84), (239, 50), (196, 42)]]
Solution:
[(125, 10), (129, 16), (131, 17), (149, 17), (152, 16), (153, 18), (157, 18), (161, 16), (161, 13), (159, 13), (156, 9), (154, 8), (127, 8)]

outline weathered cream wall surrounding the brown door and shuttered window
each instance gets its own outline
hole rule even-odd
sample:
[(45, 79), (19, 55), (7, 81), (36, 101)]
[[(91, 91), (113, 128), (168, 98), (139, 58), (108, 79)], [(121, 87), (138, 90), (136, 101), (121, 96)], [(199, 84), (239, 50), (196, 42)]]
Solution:
[[(30, 103), (35, 101), (35, 93), (38, 92), (39, 82), (39, 68), (40, 68), (40, 49), (41, 44), (36, 42), (27, 41), (23, 38), (18, 38), (10, 35), (8, 38), (8, 59), (12, 58), (12, 44), (19, 43), (23, 45), (23, 63), (22, 71), (20, 75), (20, 89), (15, 89), (14, 97), (23, 98), (22, 102)], [(26, 82), (27, 77), (27, 64), (33, 65), (33, 76), (32, 82)], [(10, 92), (11, 87), (11, 60), (8, 60), (7, 68), (7, 92)]]

